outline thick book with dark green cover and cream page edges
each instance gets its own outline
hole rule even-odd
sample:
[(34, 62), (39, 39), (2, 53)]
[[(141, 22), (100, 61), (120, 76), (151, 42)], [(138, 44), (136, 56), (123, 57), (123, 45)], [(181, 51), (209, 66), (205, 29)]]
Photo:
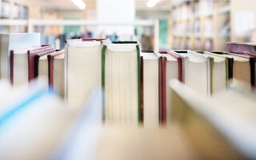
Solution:
[(140, 114), (140, 50), (137, 42), (102, 48), (103, 120), (137, 125)]

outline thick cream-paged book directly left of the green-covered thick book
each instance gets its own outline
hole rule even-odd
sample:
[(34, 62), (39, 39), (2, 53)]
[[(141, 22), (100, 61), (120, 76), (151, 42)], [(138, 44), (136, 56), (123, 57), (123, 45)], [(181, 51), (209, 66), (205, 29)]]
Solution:
[(66, 42), (64, 98), (74, 110), (82, 106), (95, 87), (101, 87), (102, 44), (102, 39)]

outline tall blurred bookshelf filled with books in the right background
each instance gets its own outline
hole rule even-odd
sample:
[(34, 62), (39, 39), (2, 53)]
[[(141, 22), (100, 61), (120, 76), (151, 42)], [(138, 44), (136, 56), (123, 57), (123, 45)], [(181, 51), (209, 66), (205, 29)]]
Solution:
[(235, 33), (237, 14), (249, 12), (255, 19), (253, 8), (250, 1), (176, 1), (170, 11), (170, 46), (212, 51), (226, 50), (226, 42), (245, 42), (246, 34)]

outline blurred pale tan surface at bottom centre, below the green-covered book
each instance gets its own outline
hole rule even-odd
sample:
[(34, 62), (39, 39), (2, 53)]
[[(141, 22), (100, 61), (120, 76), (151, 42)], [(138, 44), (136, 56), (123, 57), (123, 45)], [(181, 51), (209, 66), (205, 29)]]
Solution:
[(94, 159), (198, 159), (178, 128), (103, 127)]

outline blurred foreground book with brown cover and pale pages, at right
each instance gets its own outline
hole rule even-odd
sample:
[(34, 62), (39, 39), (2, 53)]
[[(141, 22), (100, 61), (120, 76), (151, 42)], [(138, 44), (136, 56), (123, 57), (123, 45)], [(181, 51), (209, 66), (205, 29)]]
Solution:
[(206, 98), (177, 80), (170, 82), (173, 125), (186, 130), (203, 159), (256, 158), (255, 95), (238, 86)]

